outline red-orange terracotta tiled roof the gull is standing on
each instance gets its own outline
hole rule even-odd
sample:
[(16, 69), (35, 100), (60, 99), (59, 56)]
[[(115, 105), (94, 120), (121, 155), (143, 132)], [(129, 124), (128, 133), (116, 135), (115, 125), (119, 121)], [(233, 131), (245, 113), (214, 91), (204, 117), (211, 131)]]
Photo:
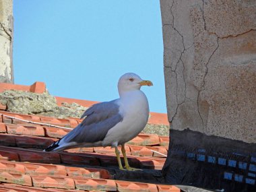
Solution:
[[(46, 86), (42, 82), (32, 86), (0, 84), (0, 92), (11, 89), (42, 93)], [(77, 102), (90, 106), (96, 103), (61, 97), (56, 99), (58, 104)], [(168, 137), (140, 133), (129, 141), (126, 145), (129, 162), (143, 171), (122, 171), (118, 169), (114, 150), (109, 147), (42, 152), (70, 131), (51, 125), (73, 128), (81, 122), (80, 119), (22, 115), (5, 110), (6, 106), (0, 104), (0, 192), (181, 191), (171, 185), (162, 185), (164, 181), (160, 170), (167, 155)], [(166, 114), (151, 113), (149, 123), (168, 125)]]

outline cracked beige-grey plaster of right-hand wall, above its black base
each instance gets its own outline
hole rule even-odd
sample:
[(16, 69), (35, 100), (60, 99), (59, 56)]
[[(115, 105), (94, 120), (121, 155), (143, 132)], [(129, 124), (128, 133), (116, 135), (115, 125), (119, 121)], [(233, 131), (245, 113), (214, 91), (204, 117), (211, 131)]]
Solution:
[(160, 0), (172, 129), (256, 142), (256, 1)]

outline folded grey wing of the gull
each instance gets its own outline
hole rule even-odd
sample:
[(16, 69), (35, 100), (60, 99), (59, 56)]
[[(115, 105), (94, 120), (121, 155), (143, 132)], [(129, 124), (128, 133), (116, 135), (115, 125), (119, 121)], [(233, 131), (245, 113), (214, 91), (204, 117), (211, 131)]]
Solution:
[(119, 114), (119, 105), (115, 100), (94, 104), (85, 111), (81, 119), (86, 117), (82, 123), (63, 137), (65, 143), (94, 143), (102, 141), (108, 130), (123, 121)]

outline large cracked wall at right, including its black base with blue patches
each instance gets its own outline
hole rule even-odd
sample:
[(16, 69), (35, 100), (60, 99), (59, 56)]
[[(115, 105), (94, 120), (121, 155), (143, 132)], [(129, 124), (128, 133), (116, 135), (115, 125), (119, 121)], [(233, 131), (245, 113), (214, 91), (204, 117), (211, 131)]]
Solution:
[(256, 191), (256, 1), (160, 0), (167, 183)]

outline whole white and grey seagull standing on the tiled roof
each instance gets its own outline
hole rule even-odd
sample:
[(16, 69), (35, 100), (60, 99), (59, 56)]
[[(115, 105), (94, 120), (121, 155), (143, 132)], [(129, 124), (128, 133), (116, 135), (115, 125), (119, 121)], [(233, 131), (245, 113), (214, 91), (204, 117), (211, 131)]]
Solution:
[(135, 73), (122, 75), (118, 82), (119, 98), (92, 105), (82, 115), (82, 123), (52, 143), (44, 152), (111, 146), (115, 148), (119, 169), (124, 170), (117, 148), (121, 145), (126, 170), (138, 170), (129, 166), (125, 143), (136, 137), (148, 122), (148, 99), (140, 90), (141, 86), (153, 84)]

